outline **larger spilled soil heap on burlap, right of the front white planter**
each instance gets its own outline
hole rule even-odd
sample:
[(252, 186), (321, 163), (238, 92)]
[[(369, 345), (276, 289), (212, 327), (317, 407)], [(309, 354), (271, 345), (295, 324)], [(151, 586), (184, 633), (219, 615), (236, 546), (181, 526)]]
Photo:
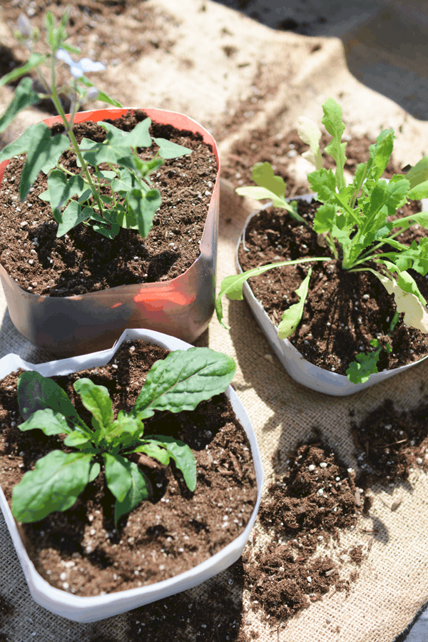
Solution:
[(272, 625), (329, 591), (349, 591), (358, 573), (353, 570), (345, 577), (342, 563), (360, 565), (367, 556), (363, 546), (335, 551), (339, 559), (325, 549), (331, 539), (337, 549), (340, 529), (353, 530), (358, 516), (367, 511), (364, 491), (355, 486), (355, 472), (319, 436), (297, 447), (287, 464), (289, 472), (277, 476), (260, 508), (270, 544), (257, 549), (253, 538), (253, 549), (244, 552), (252, 607), (262, 608), (263, 618)]

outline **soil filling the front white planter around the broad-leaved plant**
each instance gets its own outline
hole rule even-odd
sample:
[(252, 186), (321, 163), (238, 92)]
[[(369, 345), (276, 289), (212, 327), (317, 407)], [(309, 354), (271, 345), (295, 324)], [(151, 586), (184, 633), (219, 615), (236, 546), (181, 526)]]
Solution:
[[(83, 419), (87, 411), (72, 384), (89, 375), (108, 388), (116, 412), (129, 411), (151, 365), (166, 354), (160, 347), (128, 342), (109, 365), (55, 379)], [(0, 390), (0, 481), (9, 503), (24, 472), (61, 447), (58, 437), (19, 431), (15, 387), (16, 374), (11, 374)], [(193, 412), (156, 413), (145, 426), (145, 434), (172, 434), (190, 446), (198, 469), (195, 492), (175, 469), (147, 467), (153, 499), (124, 517), (116, 531), (114, 498), (101, 472), (72, 509), (21, 526), (29, 555), (50, 584), (77, 595), (153, 584), (196, 566), (245, 528), (257, 485), (248, 439), (225, 395), (201, 402)]]

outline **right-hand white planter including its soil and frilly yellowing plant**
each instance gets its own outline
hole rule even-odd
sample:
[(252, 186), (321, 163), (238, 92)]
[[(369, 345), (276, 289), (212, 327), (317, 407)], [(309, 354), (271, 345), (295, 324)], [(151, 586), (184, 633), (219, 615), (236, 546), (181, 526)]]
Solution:
[[(309, 146), (303, 156), (316, 168), (307, 176), (313, 203), (312, 196), (290, 203), (272, 165), (255, 165), (257, 186), (236, 191), (270, 203), (247, 220), (238, 245), (240, 274), (223, 280), (216, 310), (222, 322), (223, 295), (247, 298), (292, 377), (319, 392), (346, 395), (427, 356), (428, 239), (421, 229), (428, 228), (428, 212), (417, 201), (424, 210), (428, 158), (406, 174), (382, 178), (394, 140), (393, 131), (384, 130), (350, 183), (342, 110), (332, 98), (322, 108), (332, 136), (324, 152), (335, 172), (323, 167), (322, 134), (308, 118), (300, 118), (298, 132)], [(247, 280), (254, 277), (252, 292)]]

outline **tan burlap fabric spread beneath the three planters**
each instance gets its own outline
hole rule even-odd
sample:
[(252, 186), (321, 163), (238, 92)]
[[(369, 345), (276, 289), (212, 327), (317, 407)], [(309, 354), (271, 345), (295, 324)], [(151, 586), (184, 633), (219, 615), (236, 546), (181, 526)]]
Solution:
[[(301, 114), (319, 121), (320, 106), (328, 96), (342, 104), (350, 133), (370, 133), (373, 136), (382, 126), (393, 126), (397, 132), (397, 160), (403, 165), (416, 162), (424, 152), (428, 152), (424, 147), (428, 141), (427, 123), (417, 121), (397, 103), (357, 81), (347, 69), (339, 40), (307, 39), (271, 31), (212, 2), (202, 3), (204, 11), (200, 10), (202, 4), (199, 0), (147, 2), (148, 6), (155, 4), (179, 22), (179, 26), (170, 26), (176, 39), (175, 58), (171, 60), (170, 54), (158, 51), (157, 57), (152, 56), (148, 62), (137, 61), (130, 65), (123, 85), (126, 98), (115, 89), (118, 71), (121, 71), (121, 68), (116, 68), (116, 78), (107, 73), (110, 89), (114, 96), (126, 103), (185, 111), (208, 125), (218, 138), (223, 158), (230, 153), (233, 141), (238, 137), (245, 138), (252, 128), (269, 124), (273, 136), (295, 126), (295, 119)], [(396, 4), (398, 8), (401, 6)], [(367, 44), (364, 36), (367, 31), (363, 27), (360, 26), (360, 31), (347, 40), (348, 60), (355, 51), (360, 60), (367, 62), (370, 58), (370, 42)], [(1, 29), (2, 33), (7, 33), (4, 25)], [(222, 29), (227, 29), (223, 36)], [(372, 33), (370, 25), (368, 29)], [(322, 47), (316, 54), (311, 54), (315, 42)], [(236, 47), (238, 53), (234, 60), (220, 55), (223, 44)], [(208, 70), (207, 54), (212, 61)], [(192, 65), (180, 66), (179, 61), (184, 58), (191, 60)], [(394, 73), (393, 61), (389, 59), (389, 63)], [(149, 69), (150, 83), (138, 81), (143, 64)], [(157, 77), (162, 76), (160, 70), (163, 70), (163, 81), (157, 81)], [(203, 78), (198, 81), (198, 74), (203, 72)], [(407, 78), (403, 96), (406, 91), (411, 96), (420, 90), (417, 71), (412, 73), (413, 76)], [(239, 116), (240, 108), (250, 100), (254, 83), (264, 88), (266, 97), (263, 105), (253, 108), (250, 115), (243, 116), (242, 113), (225, 129), (225, 119), (233, 112)], [(150, 100), (147, 100), (147, 95)], [(8, 99), (6, 94), (3, 98), (5, 102)], [(427, 98), (425, 94), (424, 98)], [(30, 118), (40, 119), (40, 114), (33, 112)], [(295, 175), (303, 169), (305, 167), (297, 162)], [(218, 283), (235, 271), (235, 243), (250, 209), (250, 203), (236, 197), (230, 185), (223, 183)], [(4, 302), (2, 305), (0, 356), (17, 352), (34, 362), (51, 358), (29, 345), (14, 330)], [(230, 332), (223, 330), (213, 319), (199, 343), (235, 357), (238, 364), (235, 387), (258, 435), (267, 482), (274, 474), (272, 454), (277, 447), (285, 452), (291, 451), (300, 439), (310, 435), (312, 427), (320, 428), (340, 457), (349, 466), (357, 467), (350, 435), (350, 410), (355, 412), (358, 420), (387, 397), (394, 399), (398, 411), (416, 406), (424, 397), (428, 362), (392, 377), (382, 386), (379, 384), (352, 397), (327, 397), (300, 387), (288, 377), (272, 354), (245, 302), (225, 302), (225, 310), (231, 325)], [(349, 596), (345, 593), (327, 595), (278, 630), (262, 624), (260, 616), (251, 613), (251, 609), (245, 612), (240, 626), (245, 631), (260, 633), (261, 642), (276, 639), (280, 642), (392, 642), (428, 599), (427, 493), (427, 475), (420, 471), (413, 472), (408, 483), (372, 488), (374, 504), (370, 517), (361, 519), (355, 531), (343, 539), (344, 545), (362, 544), (363, 550), (367, 551), (370, 536), (362, 529), (370, 529), (373, 525), (377, 529), (372, 548)], [(402, 504), (397, 511), (391, 511), (388, 505), (398, 498), (402, 499)], [(1, 633), (9, 642), (33, 639), (127, 642), (130, 639), (130, 616), (127, 614), (101, 623), (78, 625), (37, 606), (29, 596), (2, 518), (0, 564), (0, 595), (14, 606), (14, 612), (4, 616), (0, 625)], [(216, 581), (224, 585), (230, 599), (235, 598), (238, 603), (242, 601), (244, 608), (250, 608), (247, 593), (234, 593), (230, 588), (229, 571)], [(188, 601), (194, 605), (193, 608), (210, 608), (207, 602), (209, 586), (210, 582), (189, 591)], [(140, 614), (143, 620), (144, 609)], [(193, 624), (190, 615), (187, 631), (181, 631), (177, 639), (192, 642), (217, 639), (213, 630), (197, 630)], [(233, 639), (235, 633), (231, 630), (230, 640)]]

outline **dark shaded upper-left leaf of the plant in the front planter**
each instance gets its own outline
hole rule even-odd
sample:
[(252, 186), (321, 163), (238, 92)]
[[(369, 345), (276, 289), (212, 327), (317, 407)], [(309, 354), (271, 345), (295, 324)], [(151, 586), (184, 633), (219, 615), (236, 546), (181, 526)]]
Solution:
[(19, 411), (23, 419), (29, 419), (36, 410), (51, 408), (63, 414), (69, 421), (91, 434), (86, 424), (78, 416), (76, 408), (68, 399), (66, 392), (49, 377), (29, 370), (20, 374), (18, 379)]

